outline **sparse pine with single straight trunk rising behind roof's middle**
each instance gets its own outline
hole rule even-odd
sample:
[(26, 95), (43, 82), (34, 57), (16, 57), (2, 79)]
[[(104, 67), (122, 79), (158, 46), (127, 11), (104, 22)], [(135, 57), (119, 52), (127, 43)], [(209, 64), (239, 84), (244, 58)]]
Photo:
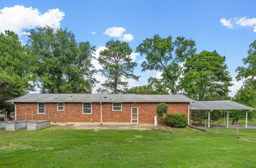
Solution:
[(100, 70), (107, 80), (101, 84), (100, 93), (124, 93), (128, 87), (128, 79), (138, 81), (139, 76), (133, 74), (136, 62), (132, 62), (132, 49), (126, 42), (110, 40), (106, 50), (100, 52), (98, 61), (103, 69)]

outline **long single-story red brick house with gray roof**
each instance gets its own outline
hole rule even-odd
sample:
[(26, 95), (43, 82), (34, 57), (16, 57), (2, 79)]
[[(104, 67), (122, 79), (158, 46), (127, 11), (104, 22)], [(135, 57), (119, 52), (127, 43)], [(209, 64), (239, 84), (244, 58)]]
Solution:
[(27, 94), (12, 100), (16, 120), (50, 120), (51, 124), (154, 124), (156, 106), (188, 115), (184, 95)]

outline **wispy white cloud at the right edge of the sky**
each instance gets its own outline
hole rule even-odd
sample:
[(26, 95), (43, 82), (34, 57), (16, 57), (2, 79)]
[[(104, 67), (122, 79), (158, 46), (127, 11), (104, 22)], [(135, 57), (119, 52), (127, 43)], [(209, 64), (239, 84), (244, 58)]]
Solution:
[(231, 18), (226, 20), (224, 18), (220, 19), (220, 22), (226, 26), (227, 28), (235, 28), (235, 27), (254, 27), (254, 32), (256, 32), (256, 18)]

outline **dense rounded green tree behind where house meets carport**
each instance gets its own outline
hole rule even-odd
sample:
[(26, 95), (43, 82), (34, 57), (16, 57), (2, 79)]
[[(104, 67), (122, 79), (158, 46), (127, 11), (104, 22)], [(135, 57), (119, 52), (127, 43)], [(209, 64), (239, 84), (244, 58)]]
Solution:
[(214, 100), (216, 96), (222, 100), (228, 98), (228, 86), (232, 86), (232, 78), (226, 70), (225, 60), (225, 56), (220, 56), (216, 51), (202, 51), (188, 58), (181, 79), (184, 93), (199, 101), (204, 100), (205, 96), (208, 100)]

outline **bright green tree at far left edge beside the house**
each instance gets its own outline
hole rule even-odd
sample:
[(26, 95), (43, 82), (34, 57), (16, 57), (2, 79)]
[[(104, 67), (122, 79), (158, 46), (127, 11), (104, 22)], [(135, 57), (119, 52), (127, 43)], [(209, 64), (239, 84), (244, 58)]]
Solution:
[(33, 58), (14, 32), (8, 30), (0, 34), (0, 109), (12, 107), (5, 100), (33, 90), (32, 63)]

